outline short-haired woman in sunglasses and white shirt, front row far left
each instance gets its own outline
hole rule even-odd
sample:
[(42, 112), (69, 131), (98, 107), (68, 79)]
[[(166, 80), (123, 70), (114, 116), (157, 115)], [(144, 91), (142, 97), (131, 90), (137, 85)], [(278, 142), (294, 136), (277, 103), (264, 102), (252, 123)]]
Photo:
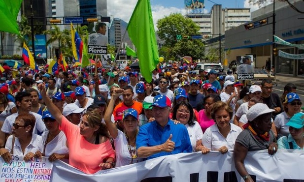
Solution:
[(11, 154), (24, 156), (25, 161), (30, 161), (35, 152), (43, 150), (42, 138), (33, 133), (35, 117), (32, 114), (20, 114), (13, 123), (12, 133), (6, 141), (5, 148), (0, 149), (0, 155), (7, 163)]

